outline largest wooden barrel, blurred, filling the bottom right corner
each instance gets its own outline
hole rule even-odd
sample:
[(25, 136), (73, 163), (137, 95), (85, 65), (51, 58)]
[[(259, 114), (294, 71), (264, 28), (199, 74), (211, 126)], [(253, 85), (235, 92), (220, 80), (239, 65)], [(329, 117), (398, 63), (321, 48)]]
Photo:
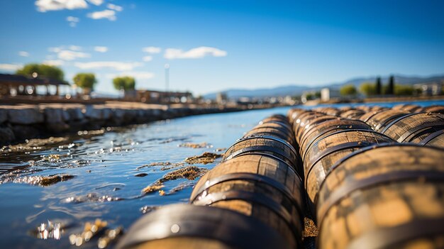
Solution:
[(318, 248), (443, 248), (444, 150), (412, 144), (358, 151), (318, 194)]

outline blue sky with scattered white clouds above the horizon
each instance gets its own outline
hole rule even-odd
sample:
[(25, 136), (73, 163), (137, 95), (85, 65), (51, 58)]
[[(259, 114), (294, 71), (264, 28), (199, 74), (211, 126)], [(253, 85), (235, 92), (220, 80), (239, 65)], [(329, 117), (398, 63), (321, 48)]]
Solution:
[(444, 73), (444, 1), (5, 0), (0, 71), (59, 65), (194, 94)]

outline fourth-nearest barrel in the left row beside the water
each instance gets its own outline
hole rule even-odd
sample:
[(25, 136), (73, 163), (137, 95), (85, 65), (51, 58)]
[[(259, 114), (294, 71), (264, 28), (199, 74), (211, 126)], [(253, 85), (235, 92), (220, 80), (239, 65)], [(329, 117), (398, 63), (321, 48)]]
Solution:
[(282, 140), (286, 140), (288, 143), (295, 145), (294, 135), (292, 131), (289, 131), (286, 126), (280, 123), (269, 122), (262, 123), (252, 128), (243, 137), (248, 138), (250, 136), (271, 135)]

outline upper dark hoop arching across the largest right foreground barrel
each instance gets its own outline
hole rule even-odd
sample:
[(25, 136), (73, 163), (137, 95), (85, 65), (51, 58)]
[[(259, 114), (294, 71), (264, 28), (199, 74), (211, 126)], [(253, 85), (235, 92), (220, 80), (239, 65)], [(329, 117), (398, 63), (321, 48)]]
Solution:
[[(410, 179), (428, 179), (433, 181), (444, 181), (444, 172), (436, 170), (403, 170), (387, 172), (384, 175), (375, 175), (366, 179), (348, 181), (344, 180), (343, 186), (333, 190), (330, 196), (323, 202), (318, 209), (318, 221), (322, 221), (332, 206), (348, 197), (352, 192), (358, 189), (374, 187), (379, 184), (387, 184), (394, 181), (406, 181)], [(324, 180), (325, 181), (325, 180)], [(318, 201), (318, 200), (317, 200)], [(317, 204), (316, 204), (317, 206)], [(321, 228), (321, 226), (319, 226)]]

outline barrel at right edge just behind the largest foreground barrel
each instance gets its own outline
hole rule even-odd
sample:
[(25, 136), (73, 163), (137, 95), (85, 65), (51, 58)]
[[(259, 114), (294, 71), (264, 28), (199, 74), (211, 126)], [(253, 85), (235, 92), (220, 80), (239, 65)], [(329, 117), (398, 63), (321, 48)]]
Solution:
[(443, 114), (408, 114), (396, 118), (382, 129), (381, 133), (388, 135), (399, 143), (421, 143), (421, 140), (431, 133), (443, 129)]

